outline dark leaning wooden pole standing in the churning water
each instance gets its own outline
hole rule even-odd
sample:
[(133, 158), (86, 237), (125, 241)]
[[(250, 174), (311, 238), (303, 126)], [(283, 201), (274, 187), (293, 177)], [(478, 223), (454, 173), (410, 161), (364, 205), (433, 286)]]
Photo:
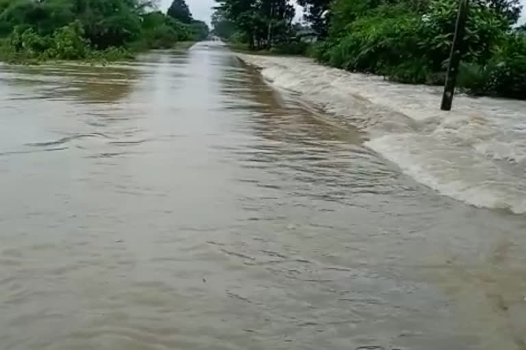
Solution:
[(458, 7), (457, 24), (455, 26), (455, 36), (451, 45), (449, 64), (447, 65), (446, 85), (444, 85), (444, 95), (442, 96), (442, 111), (451, 111), (453, 94), (455, 94), (455, 84), (457, 83), (458, 66), (460, 58), (464, 53), (464, 33), (466, 33), (466, 18), (468, 16), (468, 0), (460, 0)]

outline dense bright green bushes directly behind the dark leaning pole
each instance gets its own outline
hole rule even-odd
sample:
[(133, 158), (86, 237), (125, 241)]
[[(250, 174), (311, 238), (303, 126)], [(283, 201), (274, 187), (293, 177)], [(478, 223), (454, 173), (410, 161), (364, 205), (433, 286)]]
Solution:
[[(471, 3), (459, 82), (475, 94), (526, 98), (526, 40), (510, 34), (508, 12), (490, 4), (497, 1)], [(443, 83), (457, 12), (457, 0), (336, 0), (329, 38), (311, 52), (338, 68)]]

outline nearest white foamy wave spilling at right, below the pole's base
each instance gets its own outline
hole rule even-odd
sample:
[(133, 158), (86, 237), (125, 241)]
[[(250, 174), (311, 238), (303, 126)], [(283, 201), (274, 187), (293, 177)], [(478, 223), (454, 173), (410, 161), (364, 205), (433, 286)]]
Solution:
[(366, 143), (419, 182), (474, 206), (526, 213), (526, 188), (492, 159), (427, 135), (399, 134)]

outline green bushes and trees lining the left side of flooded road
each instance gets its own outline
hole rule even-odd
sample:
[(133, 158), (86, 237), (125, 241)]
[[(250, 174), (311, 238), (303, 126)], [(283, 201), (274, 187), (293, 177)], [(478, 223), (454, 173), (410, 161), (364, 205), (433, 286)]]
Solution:
[(184, 0), (168, 14), (156, 8), (153, 0), (0, 0), (0, 60), (117, 60), (208, 37)]

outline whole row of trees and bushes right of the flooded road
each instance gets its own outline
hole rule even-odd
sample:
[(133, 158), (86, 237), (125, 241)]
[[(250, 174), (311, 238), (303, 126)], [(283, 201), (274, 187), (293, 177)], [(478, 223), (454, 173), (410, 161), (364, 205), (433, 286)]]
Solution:
[[(214, 31), (251, 49), (294, 42), (291, 1), (223, 0)], [(250, 3), (250, 4), (249, 4)], [(319, 62), (402, 83), (444, 83), (458, 0), (299, 0)], [(288, 10), (285, 10), (288, 9)], [(526, 27), (519, 0), (472, 0), (458, 85), (526, 99)], [(296, 30), (295, 30), (296, 29)], [(287, 38), (288, 37), (288, 38)], [(304, 51), (304, 50), (303, 50)]]

